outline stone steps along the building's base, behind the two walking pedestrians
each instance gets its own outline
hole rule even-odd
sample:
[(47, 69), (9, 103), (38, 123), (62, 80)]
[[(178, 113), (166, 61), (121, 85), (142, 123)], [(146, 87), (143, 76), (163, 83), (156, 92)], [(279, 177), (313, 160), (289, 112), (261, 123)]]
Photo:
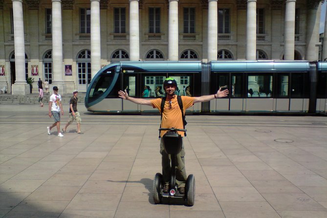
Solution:
[[(78, 93), (78, 103), (84, 104), (86, 93)], [(69, 100), (72, 95), (62, 95), (62, 103), (69, 104)], [(48, 104), (49, 102), (49, 95), (44, 95), (43, 103)], [(40, 104), (39, 103), (39, 94), (32, 93), (28, 95), (11, 95), (11, 93), (0, 94), (0, 104), (24, 104), (24, 105), (34, 105)]]

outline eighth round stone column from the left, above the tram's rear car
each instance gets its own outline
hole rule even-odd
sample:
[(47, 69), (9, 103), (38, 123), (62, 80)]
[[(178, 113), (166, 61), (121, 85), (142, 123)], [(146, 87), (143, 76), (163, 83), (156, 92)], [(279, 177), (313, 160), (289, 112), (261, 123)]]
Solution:
[(286, 0), (284, 29), (284, 60), (294, 60), (295, 47), (295, 2)]

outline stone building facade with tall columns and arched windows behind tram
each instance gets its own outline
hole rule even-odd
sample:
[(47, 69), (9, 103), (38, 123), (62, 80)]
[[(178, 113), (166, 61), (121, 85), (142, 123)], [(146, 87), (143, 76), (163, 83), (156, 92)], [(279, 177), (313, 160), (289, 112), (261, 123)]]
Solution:
[(27, 94), (32, 77), (86, 91), (117, 61), (318, 60), (321, 3), (0, 0), (0, 88)]

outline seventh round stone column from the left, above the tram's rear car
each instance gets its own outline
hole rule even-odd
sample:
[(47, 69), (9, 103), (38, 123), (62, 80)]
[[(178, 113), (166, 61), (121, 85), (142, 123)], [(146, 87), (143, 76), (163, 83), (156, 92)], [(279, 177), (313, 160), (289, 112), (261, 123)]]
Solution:
[(247, 1), (246, 60), (256, 60), (257, 54), (257, 0)]

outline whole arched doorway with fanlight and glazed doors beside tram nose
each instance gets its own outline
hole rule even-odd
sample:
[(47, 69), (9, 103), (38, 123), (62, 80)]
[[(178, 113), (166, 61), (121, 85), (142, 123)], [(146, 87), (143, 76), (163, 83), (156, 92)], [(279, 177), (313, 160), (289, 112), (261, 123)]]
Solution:
[(91, 82), (91, 51), (83, 50), (77, 55), (77, 88), (86, 92), (87, 86)]

